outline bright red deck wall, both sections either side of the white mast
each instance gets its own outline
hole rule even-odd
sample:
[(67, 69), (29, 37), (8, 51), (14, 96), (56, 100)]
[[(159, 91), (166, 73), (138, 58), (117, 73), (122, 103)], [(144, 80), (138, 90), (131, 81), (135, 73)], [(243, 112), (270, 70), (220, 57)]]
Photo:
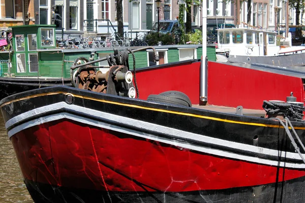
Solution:
[[(200, 103), (200, 62), (180, 66), (144, 69), (136, 73), (140, 99), (150, 94), (175, 90), (187, 94), (192, 104)], [(183, 73), (183, 74), (181, 74)], [(282, 100), (296, 97), (304, 102), (302, 79), (277, 73), (264, 72), (234, 65), (208, 62), (208, 104), (260, 109), (264, 100)]]

